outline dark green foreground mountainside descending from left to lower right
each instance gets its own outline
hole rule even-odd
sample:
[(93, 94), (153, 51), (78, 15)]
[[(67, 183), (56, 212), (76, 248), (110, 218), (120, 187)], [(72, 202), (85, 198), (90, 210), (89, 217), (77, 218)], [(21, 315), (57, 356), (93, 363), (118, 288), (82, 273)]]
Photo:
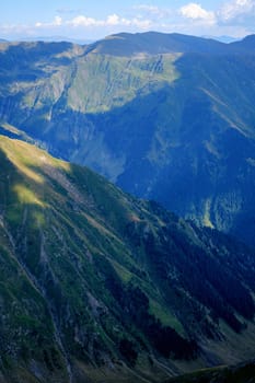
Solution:
[(160, 382), (253, 356), (253, 251), (23, 141), (0, 136), (0, 162), (3, 382)]

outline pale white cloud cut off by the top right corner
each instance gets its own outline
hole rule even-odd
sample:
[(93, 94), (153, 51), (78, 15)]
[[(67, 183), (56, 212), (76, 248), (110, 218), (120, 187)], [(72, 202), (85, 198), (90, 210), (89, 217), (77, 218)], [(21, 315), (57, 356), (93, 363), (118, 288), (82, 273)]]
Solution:
[(255, 10), (254, 0), (234, 0), (227, 2), (219, 10), (218, 14), (222, 21), (230, 21), (242, 15), (248, 15)]

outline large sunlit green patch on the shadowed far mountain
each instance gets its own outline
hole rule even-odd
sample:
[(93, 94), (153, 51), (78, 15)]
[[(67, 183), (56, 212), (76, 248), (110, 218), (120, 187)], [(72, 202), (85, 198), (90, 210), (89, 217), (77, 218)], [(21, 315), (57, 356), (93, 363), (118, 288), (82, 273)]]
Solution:
[(81, 57), (68, 91), (68, 106), (81, 113), (103, 113), (123, 106), (140, 92), (146, 94), (162, 83), (176, 80), (174, 61), (177, 57), (176, 54)]

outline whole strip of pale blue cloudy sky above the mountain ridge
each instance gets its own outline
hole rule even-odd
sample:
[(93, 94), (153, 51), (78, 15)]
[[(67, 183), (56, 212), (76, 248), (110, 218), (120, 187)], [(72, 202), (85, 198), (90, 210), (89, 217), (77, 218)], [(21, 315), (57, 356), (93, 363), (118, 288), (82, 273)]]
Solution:
[(255, 0), (4, 0), (0, 38), (95, 40), (159, 31), (244, 37), (255, 33)]

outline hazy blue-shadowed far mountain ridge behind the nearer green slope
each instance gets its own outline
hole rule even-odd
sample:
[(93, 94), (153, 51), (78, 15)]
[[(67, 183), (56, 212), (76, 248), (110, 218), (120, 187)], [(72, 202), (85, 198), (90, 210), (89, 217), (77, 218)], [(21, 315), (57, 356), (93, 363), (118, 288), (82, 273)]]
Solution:
[(1, 129), (254, 244), (254, 46), (158, 33), (2, 43)]

